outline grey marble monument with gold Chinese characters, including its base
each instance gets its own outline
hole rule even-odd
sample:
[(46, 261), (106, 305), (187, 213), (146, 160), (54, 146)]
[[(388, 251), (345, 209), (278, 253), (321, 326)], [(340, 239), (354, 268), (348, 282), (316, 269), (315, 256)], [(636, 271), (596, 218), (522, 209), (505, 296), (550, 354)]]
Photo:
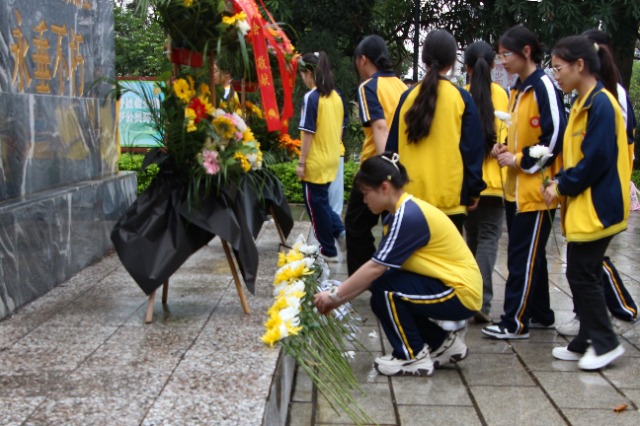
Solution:
[(118, 173), (113, 0), (0, 4), (0, 318), (111, 250)]

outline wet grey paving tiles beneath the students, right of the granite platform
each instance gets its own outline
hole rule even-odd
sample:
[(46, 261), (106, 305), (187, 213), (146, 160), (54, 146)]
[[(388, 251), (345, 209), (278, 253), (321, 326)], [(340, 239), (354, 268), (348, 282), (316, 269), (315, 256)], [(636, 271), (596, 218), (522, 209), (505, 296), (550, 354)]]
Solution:
[[(571, 293), (564, 275), (565, 245), (556, 223), (547, 245), (552, 307), (558, 322), (573, 317)], [(640, 301), (640, 214), (632, 213), (629, 229), (615, 237), (608, 254), (634, 299)], [(494, 272), (491, 314), (499, 318), (507, 276), (506, 232), (500, 241)], [(346, 278), (344, 264), (332, 267), (333, 277)], [(359, 340), (367, 351), (352, 362), (366, 395), (361, 407), (381, 425), (639, 425), (640, 323), (621, 335), (625, 355), (599, 372), (582, 372), (574, 362), (554, 360), (551, 350), (567, 344), (553, 330), (532, 330), (529, 340), (496, 341), (470, 321), (465, 341), (470, 355), (429, 378), (384, 377), (372, 367), (373, 358), (390, 346), (368, 306), (366, 293), (354, 301), (367, 319)], [(372, 332), (375, 331), (375, 337)], [(627, 404), (626, 411), (613, 408)], [(348, 417), (334, 412), (298, 371), (288, 425), (348, 425)]]

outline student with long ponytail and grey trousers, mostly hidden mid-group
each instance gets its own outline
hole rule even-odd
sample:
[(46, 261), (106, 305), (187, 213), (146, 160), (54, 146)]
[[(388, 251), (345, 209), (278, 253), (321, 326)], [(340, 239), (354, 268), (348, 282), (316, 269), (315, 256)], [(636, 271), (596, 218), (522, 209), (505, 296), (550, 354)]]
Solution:
[(504, 223), (503, 185), (506, 173), (491, 155), (491, 150), (496, 142), (504, 143), (507, 136), (507, 126), (495, 112), (508, 111), (509, 95), (499, 84), (491, 81), (494, 57), (493, 48), (483, 41), (470, 44), (464, 51), (464, 64), (471, 78), (465, 89), (471, 93), (480, 115), (484, 135), (482, 179), (487, 184), (480, 193), (478, 208), (469, 212), (464, 223), (467, 244), (482, 273), (482, 309), (474, 315), (476, 322), (480, 323), (491, 322), (492, 275)]

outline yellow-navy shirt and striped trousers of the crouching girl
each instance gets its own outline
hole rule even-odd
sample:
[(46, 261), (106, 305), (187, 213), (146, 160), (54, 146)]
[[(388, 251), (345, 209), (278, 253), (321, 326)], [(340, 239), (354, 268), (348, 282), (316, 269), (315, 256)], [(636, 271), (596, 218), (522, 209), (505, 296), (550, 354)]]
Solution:
[(447, 332), (429, 318), (464, 320), (482, 306), (482, 276), (464, 239), (442, 211), (412, 195), (402, 194), (385, 217), (371, 260), (390, 268), (371, 284), (371, 306), (398, 358), (444, 342)]

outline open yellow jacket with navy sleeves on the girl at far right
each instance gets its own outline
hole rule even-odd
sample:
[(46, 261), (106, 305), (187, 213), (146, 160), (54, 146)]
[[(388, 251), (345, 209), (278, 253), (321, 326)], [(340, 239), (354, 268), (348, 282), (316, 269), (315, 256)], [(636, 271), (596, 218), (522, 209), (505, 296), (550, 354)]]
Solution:
[(558, 176), (562, 229), (568, 242), (588, 242), (627, 228), (630, 209), (626, 123), (602, 83), (571, 108)]

